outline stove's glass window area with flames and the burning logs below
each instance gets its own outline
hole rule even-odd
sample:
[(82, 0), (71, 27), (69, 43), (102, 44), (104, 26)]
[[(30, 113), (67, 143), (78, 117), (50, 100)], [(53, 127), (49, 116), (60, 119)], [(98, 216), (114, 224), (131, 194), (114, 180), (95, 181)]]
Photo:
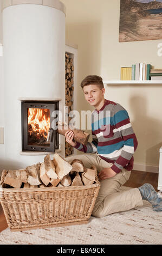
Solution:
[(50, 131), (50, 109), (28, 108), (28, 144), (41, 145), (47, 143)]

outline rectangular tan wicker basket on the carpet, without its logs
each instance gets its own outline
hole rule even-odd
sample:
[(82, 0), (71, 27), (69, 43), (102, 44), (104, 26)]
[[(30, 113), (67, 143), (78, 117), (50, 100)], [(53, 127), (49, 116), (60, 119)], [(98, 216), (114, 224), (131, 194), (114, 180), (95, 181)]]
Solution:
[(88, 223), (100, 182), (86, 186), (1, 188), (0, 200), (11, 231)]

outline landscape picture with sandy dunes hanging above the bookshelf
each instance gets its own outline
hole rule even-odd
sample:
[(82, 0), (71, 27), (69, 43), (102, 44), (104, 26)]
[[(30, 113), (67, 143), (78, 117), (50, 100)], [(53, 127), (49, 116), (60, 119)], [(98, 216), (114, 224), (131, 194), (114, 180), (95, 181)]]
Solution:
[(162, 0), (121, 0), (119, 42), (162, 39)]

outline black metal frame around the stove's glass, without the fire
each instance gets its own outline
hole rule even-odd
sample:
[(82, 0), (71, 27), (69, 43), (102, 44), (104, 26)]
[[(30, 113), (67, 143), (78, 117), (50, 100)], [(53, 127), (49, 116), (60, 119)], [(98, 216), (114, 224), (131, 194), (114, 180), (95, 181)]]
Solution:
[[(28, 144), (28, 108), (47, 108), (50, 109), (50, 137), (49, 146), (29, 145)], [(53, 111), (59, 111), (59, 101), (22, 101), (21, 115), (22, 115), (22, 151), (47, 151), (55, 153), (55, 149), (59, 149), (59, 134), (52, 129), (51, 124), (55, 119), (52, 117)]]

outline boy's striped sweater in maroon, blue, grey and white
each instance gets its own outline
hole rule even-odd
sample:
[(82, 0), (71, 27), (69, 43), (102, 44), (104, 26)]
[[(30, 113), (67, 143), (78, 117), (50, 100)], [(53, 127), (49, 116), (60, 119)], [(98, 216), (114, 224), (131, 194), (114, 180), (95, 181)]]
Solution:
[(133, 169), (133, 154), (137, 149), (137, 138), (132, 129), (129, 115), (120, 104), (105, 100), (100, 111), (92, 113), (92, 142), (76, 144), (84, 153), (98, 153), (113, 163), (112, 169), (119, 173), (122, 168)]

